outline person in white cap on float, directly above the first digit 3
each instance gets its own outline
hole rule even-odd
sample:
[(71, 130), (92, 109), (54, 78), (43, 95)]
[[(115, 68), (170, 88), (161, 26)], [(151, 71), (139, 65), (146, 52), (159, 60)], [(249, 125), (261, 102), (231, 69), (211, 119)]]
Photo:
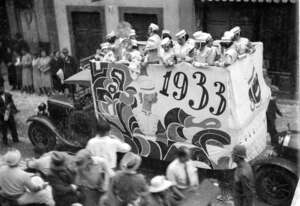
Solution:
[(195, 48), (193, 50), (193, 66), (206, 67), (214, 65), (215, 54), (211, 47), (208, 46), (209, 35), (198, 31), (193, 34), (195, 38)]

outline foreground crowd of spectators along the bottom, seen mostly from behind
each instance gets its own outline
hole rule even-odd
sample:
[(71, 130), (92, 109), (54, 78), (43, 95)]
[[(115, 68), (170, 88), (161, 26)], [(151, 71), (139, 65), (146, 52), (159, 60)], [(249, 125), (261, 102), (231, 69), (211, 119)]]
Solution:
[[(20, 164), (19, 150), (11, 149), (0, 166), (0, 197), (19, 205), (48, 206), (177, 206), (185, 205), (199, 189), (198, 170), (187, 147), (178, 148), (175, 159), (163, 172), (147, 179), (139, 168), (142, 159), (130, 146), (109, 135), (110, 126), (101, 121), (96, 136), (75, 155), (62, 151), (45, 153), (36, 147), (38, 157)], [(117, 152), (125, 153), (119, 165)], [(39, 156), (42, 154), (41, 156)], [(236, 205), (250, 205), (254, 179), (245, 161), (244, 146), (234, 147)]]

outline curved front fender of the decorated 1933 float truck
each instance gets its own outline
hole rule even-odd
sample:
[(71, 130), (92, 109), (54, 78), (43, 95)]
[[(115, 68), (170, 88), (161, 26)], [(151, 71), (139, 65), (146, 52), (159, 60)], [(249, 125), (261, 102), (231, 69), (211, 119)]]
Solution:
[(47, 116), (34, 115), (34, 116), (29, 117), (26, 122), (28, 122), (28, 123), (38, 122), (40, 124), (43, 124), (46, 127), (48, 127), (55, 134), (58, 141), (62, 142), (63, 144), (66, 144), (66, 145), (74, 146), (72, 143), (70, 143), (69, 141), (67, 141), (63, 138), (61, 133), (56, 129), (53, 122)]

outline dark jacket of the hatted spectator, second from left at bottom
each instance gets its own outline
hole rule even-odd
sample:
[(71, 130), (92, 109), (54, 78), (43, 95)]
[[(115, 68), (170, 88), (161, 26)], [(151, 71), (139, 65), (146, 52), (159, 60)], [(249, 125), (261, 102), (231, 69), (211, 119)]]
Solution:
[(48, 180), (52, 186), (56, 206), (70, 206), (72, 203), (79, 202), (77, 193), (71, 187), (71, 184), (74, 183), (74, 175), (70, 170), (51, 169)]

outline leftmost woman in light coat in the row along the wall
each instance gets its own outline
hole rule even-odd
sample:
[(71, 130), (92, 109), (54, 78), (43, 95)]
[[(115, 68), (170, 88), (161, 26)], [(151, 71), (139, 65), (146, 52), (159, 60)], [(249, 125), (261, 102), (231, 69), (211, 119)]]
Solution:
[(33, 93), (32, 86), (32, 56), (29, 53), (28, 49), (22, 48), (22, 91), (26, 93)]

